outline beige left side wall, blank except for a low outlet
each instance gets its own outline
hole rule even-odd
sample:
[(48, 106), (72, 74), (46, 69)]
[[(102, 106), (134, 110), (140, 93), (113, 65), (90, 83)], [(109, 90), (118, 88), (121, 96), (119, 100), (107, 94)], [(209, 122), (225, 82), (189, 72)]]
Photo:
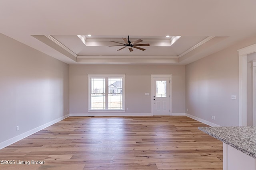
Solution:
[(66, 109), (69, 65), (0, 34), (0, 144), (67, 115)]

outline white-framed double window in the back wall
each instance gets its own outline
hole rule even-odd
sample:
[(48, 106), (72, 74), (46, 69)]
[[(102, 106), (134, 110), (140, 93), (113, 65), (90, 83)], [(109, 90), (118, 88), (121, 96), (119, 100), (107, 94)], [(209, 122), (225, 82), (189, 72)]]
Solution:
[(89, 111), (124, 111), (124, 74), (88, 74)]

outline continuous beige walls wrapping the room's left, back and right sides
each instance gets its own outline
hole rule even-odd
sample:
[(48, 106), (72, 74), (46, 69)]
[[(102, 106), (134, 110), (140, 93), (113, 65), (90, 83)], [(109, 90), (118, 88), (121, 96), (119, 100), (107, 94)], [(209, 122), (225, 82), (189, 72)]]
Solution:
[[(88, 113), (88, 73), (126, 74), (125, 107), (129, 110), (122, 115), (151, 113), (151, 74), (172, 74), (172, 113), (238, 125), (236, 50), (254, 43), (251, 37), (186, 66), (69, 66), (0, 34), (0, 144), (69, 112)], [(231, 95), (237, 99), (231, 100)]]

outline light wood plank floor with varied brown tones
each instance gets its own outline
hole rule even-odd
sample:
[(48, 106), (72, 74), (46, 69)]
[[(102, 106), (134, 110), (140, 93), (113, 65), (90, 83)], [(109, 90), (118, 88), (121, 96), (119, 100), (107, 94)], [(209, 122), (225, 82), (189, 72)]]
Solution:
[(68, 117), (0, 150), (15, 160), (0, 170), (222, 170), (222, 142), (198, 126), (185, 116)]

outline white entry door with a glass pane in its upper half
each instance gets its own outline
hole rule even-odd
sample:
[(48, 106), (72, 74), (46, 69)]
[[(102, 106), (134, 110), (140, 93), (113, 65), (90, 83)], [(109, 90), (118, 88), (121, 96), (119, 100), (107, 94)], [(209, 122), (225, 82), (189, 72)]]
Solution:
[(170, 78), (153, 78), (153, 115), (170, 115)]

